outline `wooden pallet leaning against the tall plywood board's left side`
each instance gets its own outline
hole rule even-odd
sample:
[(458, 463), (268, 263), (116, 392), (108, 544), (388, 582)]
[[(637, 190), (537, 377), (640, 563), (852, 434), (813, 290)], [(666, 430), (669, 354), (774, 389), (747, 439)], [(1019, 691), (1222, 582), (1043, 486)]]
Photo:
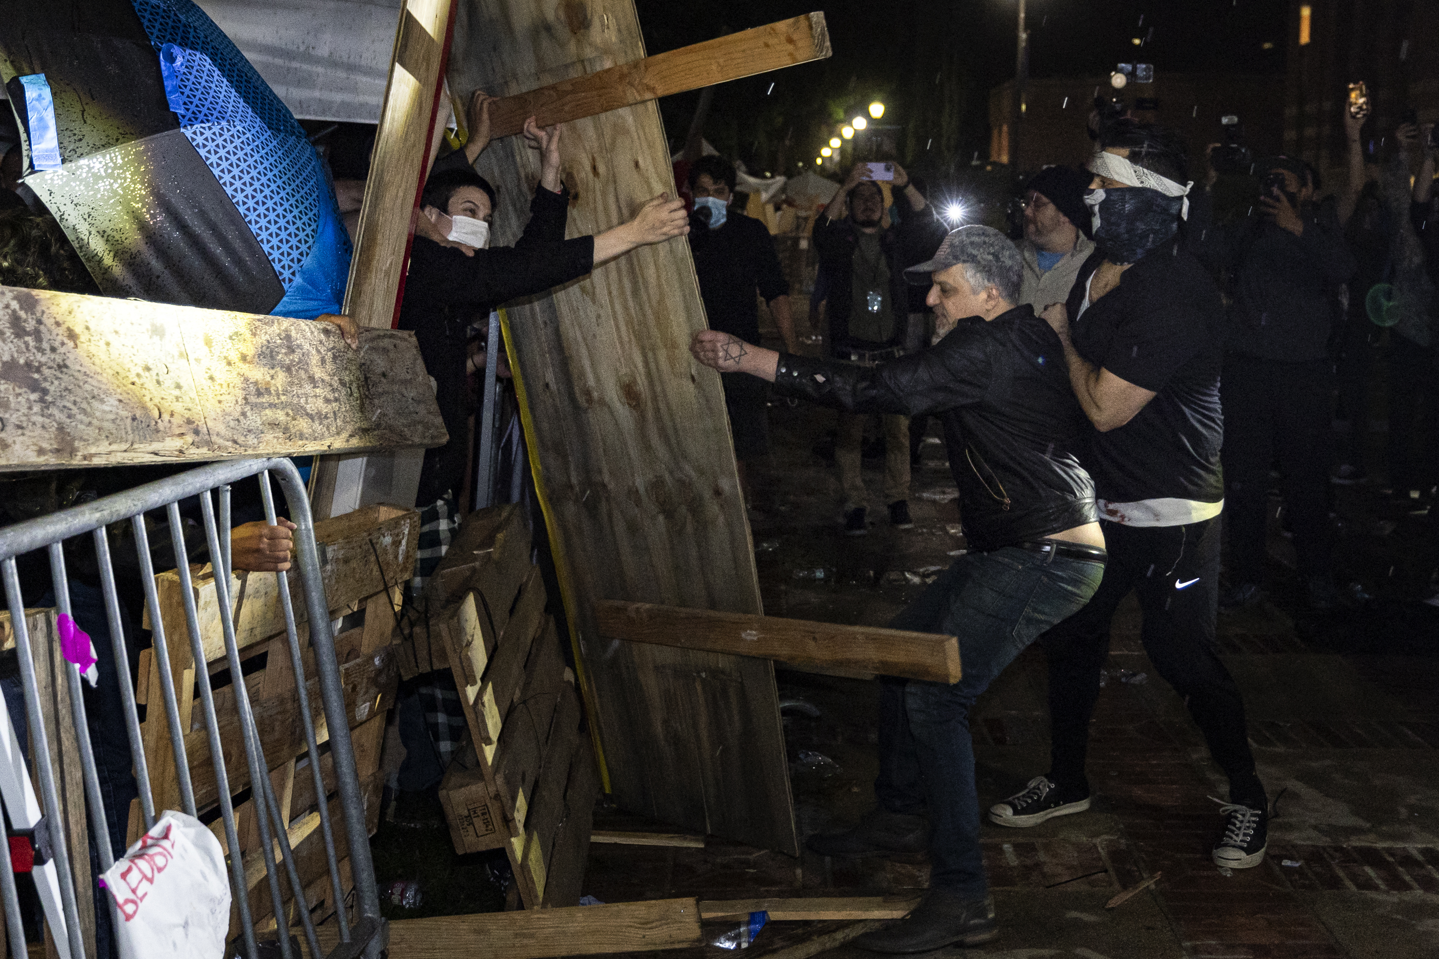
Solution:
[(469, 728), (440, 784), (455, 848), (504, 847), (528, 909), (574, 906), (599, 771), (524, 513), (471, 513), (446, 561), (426, 584), (443, 605), (425, 641), (443, 650)]

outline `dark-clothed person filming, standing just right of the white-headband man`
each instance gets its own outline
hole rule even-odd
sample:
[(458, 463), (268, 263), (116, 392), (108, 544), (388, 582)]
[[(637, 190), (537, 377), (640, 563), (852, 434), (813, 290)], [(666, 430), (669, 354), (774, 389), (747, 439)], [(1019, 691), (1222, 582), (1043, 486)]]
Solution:
[(1255, 167), (1253, 213), (1216, 224), (1209, 201), (1216, 175), (1194, 191), (1190, 242), (1227, 292), (1225, 365), (1225, 497), (1229, 502), (1229, 585), (1220, 605), (1261, 597), (1269, 466), (1278, 459), (1294, 548), (1311, 607), (1337, 605), (1328, 522), (1338, 289), (1356, 272), (1333, 204), (1315, 203), (1315, 174), (1299, 160)]

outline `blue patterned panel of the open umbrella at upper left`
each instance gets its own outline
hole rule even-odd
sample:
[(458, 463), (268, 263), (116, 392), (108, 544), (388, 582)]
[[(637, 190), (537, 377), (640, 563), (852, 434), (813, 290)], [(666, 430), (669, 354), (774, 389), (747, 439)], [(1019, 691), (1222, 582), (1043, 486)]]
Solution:
[[(265, 249), (288, 290), (338, 216), (305, 131), (235, 43), (191, 0), (134, 0), (160, 55), (186, 138)], [(348, 242), (345, 267), (348, 269)], [(342, 282), (342, 280), (341, 280)]]

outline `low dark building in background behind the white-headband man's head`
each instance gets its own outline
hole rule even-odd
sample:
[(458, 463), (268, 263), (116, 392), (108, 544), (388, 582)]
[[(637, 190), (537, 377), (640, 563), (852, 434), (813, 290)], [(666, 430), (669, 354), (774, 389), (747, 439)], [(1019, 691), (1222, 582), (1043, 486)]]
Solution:
[[(990, 161), (1009, 162), (1009, 124), (1014, 82), (990, 91)], [(1259, 73), (1164, 73), (1154, 82), (1128, 82), (1124, 89), (1104, 76), (1030, 78), (1025, 92), (1023, 165), (1033, 173), (1050, 164), (1084, 164), (1094, 144), (1085, 132), (1094, 98), (1121, 99), (1135, 119), (1174, 127), (1199, 158), (1207, 144), (1222, 142), (1220, 118), (1239, 118), (1255, 155), (1279, 152), (1284, 138), (1285, 78)], [(1197, 180), (1199, 164), (1191, 170)]]

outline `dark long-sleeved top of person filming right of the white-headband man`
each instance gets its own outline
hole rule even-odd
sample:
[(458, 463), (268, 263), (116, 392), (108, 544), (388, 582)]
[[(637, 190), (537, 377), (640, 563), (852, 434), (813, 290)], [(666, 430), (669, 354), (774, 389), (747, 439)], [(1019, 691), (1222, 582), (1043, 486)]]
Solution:
[(1217, 224), (1209, 193), (1191, 194), (1190, 249), (1209, 269), (1232, 277), (1226, 349), (1282, 362), (1328, 355), (1340, 283), (1358, 267), (1333, 206), (1305, 207), (1299, 216), (1302, 236), (1258, 213)]

